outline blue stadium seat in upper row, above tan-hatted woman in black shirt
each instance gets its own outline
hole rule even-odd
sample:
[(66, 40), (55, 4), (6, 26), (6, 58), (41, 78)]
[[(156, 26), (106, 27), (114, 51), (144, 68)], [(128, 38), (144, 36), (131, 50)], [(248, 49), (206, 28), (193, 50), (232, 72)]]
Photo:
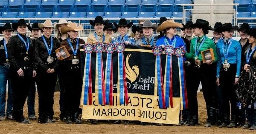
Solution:
[(42, 0), (41, 10), (42, 12), (56, 12), (58, 0)]

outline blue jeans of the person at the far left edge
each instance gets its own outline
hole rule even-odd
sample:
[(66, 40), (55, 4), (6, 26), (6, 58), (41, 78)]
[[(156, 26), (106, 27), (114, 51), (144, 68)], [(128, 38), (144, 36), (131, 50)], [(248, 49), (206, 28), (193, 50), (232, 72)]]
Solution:
[[(8, 80), (8, 99), (6, 107), (6, 84)], [(12, 115), (13, 95), (10, 79), (10, 68), (0, 65), (0, 116)]]

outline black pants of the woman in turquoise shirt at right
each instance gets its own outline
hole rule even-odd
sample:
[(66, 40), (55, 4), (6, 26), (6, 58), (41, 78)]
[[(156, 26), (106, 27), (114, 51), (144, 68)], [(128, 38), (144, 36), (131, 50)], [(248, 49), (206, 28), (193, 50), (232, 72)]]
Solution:
[(237, 122), (237, 114), (239, 112), (238, 107), (236, 106), (239, 100), (236, 98), (235, 90), (237, 85), (234, 85), (236, 78), (236, 64), (230, 64), (230, 67), (227, 71), (221, 68), (220, 73), (220, 84), (222, 90), (222, 116), (224, 122), (230, 123), (230, 104), (231, 104), (231, 122)]

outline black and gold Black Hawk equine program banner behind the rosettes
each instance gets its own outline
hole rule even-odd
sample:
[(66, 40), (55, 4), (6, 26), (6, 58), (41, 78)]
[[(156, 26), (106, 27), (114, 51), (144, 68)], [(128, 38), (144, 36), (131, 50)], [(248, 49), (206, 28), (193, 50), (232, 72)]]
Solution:
[[(174, 55), (173, 55), (174, 56)], [(84, 53), (85, 57), (85, 53)], [(118, 53), (112, 53), (112, 75), (113, 75), (113, 105), (99, 105), (95, 98), (96, 80), (96, 53), (91, 53), (91, 77), (92, 77), (92, 104), (84, 103), (85, 74), (83, 80), (83, 91), (81, 94), (81, 105), (83, 109), (82, 119), (97, 120), (139, 120), (148, 123), (178, 124), (180, 113), (180, 83), (179, 71), (172, 71), (172, 107), (165, 109), (159, 107), (159, 97), (157, 86), (155, 86), (155, 66), (156, 56), (152, 53), (152, 48), (126, 46), (123, 52), (124, 70), (126, 76), (126, 86), (128, 89), (128, 104), (120, 104), (118, 91)], [(161, 55), (162, 76), (165, 76), (166, 54)], [(85, 59), (85, 58), (84, 58)], [(106, 72), (107, 53), (102, 52), (103, 68)], [(178, 63), (178, 58), (172, 58), (174, 63)], [(173, 64), (173, 68), (179, 68), (178, 64)], [(106, 74), (105, 74), (106, 75)], [(176, 88), (177, 87), (177, 88)], [(170, 99), (166, 100), (170, 101)], [(170, 103), (170, 102), (169, 102)]]

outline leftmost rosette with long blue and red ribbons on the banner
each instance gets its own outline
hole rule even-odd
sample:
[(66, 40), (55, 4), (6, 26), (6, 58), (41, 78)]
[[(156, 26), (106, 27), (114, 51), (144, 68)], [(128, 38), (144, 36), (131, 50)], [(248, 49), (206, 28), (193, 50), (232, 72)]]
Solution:
[(93, 52), (93, 45), (84, 45), (85, 66), (84, 66), (84, 105), (92, 105), (92, 76), (91, 76), (91, 53)]

